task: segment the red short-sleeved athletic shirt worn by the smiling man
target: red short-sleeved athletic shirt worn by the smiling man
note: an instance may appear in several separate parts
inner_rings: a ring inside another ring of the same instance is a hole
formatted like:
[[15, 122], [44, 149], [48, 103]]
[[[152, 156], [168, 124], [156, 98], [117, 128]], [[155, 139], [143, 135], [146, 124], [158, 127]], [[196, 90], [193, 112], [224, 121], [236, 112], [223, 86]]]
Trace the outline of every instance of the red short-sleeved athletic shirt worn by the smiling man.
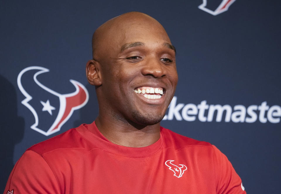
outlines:
[[4, 194], [246, 193], [215, 146], [160, 131], [154, 144], [130, 148], [109, 142], [95, 122], [70, 129], [26, 150]]

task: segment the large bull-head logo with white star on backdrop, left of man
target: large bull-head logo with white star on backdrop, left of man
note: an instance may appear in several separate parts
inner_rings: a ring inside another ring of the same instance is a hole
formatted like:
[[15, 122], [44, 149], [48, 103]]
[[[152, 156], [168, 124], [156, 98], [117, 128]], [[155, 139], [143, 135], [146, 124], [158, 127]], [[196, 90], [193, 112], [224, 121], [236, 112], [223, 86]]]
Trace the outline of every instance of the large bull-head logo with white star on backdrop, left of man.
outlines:
[[82, 108], [88, 102], [89, 94], [81, 83], [72, 79], [69, 81], [76, 91], [67, 94], [57, 93], [38, 81], [37, 76], [45, 72], [49, 72], [49, 69], [39, 66], [26, 67], [19, 73], [17, 82], [18, 88], [25, 96], [21, 103], [35, 118], [35, 123], [30, 128], [48, 136], [59, 131], [73, 111]]

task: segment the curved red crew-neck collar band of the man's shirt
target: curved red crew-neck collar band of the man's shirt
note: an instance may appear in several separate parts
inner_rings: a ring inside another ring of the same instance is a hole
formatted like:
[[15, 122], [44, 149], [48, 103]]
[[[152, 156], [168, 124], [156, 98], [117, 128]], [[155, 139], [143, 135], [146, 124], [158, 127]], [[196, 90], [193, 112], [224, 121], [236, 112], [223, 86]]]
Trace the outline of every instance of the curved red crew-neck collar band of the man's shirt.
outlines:
[[91, 124], [82, 124], [76, 128], [76, 130], [92, 144], [106, 150], [111, 153], [125, 155], [128, 157], [146, 157], [153, 155], [163, 146], [163, 136], [161, 133], [162, 127], [160, 127], [160, 138], [150, 146], [141, 148], [132, 148], [126, 146], [120, 146], [110, 142], [106, 137], [104, 137], [99, 129], [97, 128], [95, 121]]

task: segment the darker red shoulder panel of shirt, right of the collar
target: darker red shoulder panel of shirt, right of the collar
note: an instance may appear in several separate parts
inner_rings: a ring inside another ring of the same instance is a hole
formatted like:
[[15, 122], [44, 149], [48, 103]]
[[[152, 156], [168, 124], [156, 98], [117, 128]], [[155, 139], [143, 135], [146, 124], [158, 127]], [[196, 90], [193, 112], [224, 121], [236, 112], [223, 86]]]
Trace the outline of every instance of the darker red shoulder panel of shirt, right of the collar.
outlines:
[[213, 150], [212, 144], [205, 141], [198, 141], [180, 134], [177, 134], [169, 129], [161, 127], [161, 134], [163, 136], [164, 142], [167, 146], [173, 145], [176, 149], [180, 149], [186, 146], [198, 146], [207, 147]]

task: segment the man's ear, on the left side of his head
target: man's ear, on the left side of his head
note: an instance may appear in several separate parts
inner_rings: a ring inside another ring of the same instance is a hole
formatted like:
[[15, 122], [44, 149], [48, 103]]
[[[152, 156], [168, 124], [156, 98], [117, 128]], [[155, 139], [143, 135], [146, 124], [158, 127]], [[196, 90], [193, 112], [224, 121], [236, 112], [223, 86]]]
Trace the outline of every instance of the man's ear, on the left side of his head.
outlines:
[[86, 76], [87, 76], [88, 82], [91, 85], [94, 85], [94, 86], [102, 85], [100, 63], [98, 63], [94, 59], [89, 60], [88, 63], [86, 64]]

